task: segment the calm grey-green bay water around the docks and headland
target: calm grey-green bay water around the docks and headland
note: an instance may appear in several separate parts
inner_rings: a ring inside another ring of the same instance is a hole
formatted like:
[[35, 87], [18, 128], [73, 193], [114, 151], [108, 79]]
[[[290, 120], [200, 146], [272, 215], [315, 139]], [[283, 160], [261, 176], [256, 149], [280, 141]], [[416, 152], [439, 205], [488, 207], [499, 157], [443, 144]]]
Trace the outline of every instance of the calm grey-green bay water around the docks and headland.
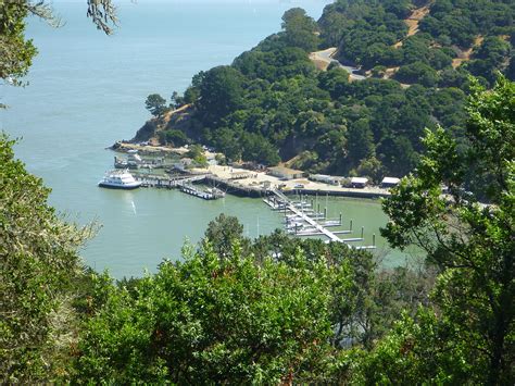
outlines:
[[[178, 191], [100, 189], [112, 166], [105, 150], [133, 137], [148, 119], [145, 99], [184, 91], [201, 70], [229, 64], [280, 28], [292, 7], [318, 17], [329, 1], [128, 1], [118, 5], [121, 27], [105, 37], [85, 16], [85, 1], [54, 2], [66, 25], [52, 29], [32, 20], [27, 35], [39, 49], [29, 86], [1, 86], [1, 128], [21, 137], [16, 155], [53, 191], [50, 201], [71, 220], [102, 224], [81, 251], [97, 270], [116, 276], [154, 271], [163, 258], [177, 259], [186, 239], [197, 242], [221, 212], [237, 215], [255, 237], [281, 219], [258, 199], [203, 201]], [[367, 242], [386, 217], [378, 202], [329, 200], [329, 211], [365, 226]], [[385, 241], [377, 238], [381, 247]], [[390, 253], [392, 261], [398, 254]]]

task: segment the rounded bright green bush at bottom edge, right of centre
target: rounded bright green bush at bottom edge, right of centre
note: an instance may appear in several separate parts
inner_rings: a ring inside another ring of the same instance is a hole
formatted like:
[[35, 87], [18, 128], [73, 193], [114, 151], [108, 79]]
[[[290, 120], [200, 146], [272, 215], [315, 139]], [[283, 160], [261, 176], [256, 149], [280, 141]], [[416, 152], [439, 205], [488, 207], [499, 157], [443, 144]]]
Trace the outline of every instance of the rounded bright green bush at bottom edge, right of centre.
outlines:
[[[402, 315], [370, 353], [347, 353], [356, 384], [480, 384], [460, 331], [422, 309], [416, 317]], [[357, 365], [356, 365], [357, 364]]]

